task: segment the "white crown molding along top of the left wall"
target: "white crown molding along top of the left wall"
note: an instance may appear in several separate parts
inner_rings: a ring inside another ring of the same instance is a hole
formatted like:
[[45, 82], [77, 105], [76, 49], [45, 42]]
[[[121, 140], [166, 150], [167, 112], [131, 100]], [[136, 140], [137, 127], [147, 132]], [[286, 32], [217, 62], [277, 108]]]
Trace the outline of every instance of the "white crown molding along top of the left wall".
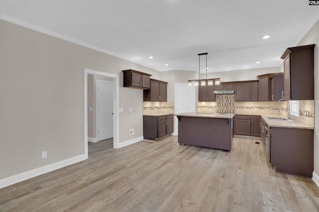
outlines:
[[[87, 48], [90, 48], [90, 49], [93, 49], [93, 50], [96, 50], [96, 51], [99, 51], [99, 52], [103, 52], [103, 53], [108, 54], [108, 55], [112, 55], [112, 56], [115, 56], [115, 57], [118, 57], [118, 58], [122, 58], [122, 59], [130, 61], [132, 63], [140, 64], [140, 65], [148, 67], [150, 69], [155, 69], [156, 70], [156, 68], [151, 67], [148, 64], [141, 63], [141, 61], [135, 61], [135, 60], [132, 60], [130, 58], [125, 58], [125, 57], [123, 57], [121, 55], [118, 55], [118, 54], [116, 54], [114, 52], [110, 52], [110, 51], [108, 51], [106, 49], [102, 49], [102, 48], [94, 46], [92, 44], [89, 44], [89, 43], [86, 43], [86, 42], [83, 42], [83, 41], [80, 41], [80, 40], [65, 36], [63, 34], [60, 34], [60, 33], [45, 29], [43, 27], [40, 27], [40, 26], [34, 25], [32, 23], [29, 23], [29, 22], [14, 18], [14, 17], [6, 15], [6, 14], [1, 14], [0, 15], [0, 19], [5, 20], [5, 21], [9, 21], [9, 22], [17, 24], [19, 26], [26, 27], [28, 29], [35, 30], [37, 32], [41, 32], [41, 33], [44, 33], [44, 34], [47, 34], [47, 35], [50, 35], [50, 36], [53, 36], [53, 37], [56, 37], [56, 38], [60, 38], [60, 39], [65, 40], [65, 41], [69, 41], [71, 43], [78, 44], [80, 46], [84, 46], [84, 47], [87, 47]], [[157, 71], [159, 71], [159, 70], [157, 70]]]

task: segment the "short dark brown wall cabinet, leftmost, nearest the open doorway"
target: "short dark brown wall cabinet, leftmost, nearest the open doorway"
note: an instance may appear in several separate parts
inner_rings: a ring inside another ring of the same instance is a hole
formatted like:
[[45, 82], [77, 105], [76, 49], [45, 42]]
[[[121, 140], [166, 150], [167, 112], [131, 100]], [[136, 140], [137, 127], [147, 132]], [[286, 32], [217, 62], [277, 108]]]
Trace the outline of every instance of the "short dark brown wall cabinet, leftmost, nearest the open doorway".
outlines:
[[132, 69], [123, 70], [123, 87], [150, 89], [150, 76], [152, 75]]

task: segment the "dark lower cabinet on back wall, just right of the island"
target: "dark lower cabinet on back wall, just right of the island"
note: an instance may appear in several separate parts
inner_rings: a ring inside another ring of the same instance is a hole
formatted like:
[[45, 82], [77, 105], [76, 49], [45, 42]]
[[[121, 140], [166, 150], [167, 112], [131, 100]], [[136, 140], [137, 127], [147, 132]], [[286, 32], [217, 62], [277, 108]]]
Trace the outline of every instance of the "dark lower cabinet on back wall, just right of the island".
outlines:
[[260, 116], [235, 115], [234, 135], [260, 137]]

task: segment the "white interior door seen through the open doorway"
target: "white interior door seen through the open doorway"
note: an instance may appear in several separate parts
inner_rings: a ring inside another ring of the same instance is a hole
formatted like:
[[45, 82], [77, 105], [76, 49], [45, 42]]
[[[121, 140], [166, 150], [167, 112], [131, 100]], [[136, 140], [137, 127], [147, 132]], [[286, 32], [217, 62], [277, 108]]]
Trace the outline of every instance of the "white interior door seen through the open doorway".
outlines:
[[113, 138], [113, 82], [97, 80], [98, 140]]

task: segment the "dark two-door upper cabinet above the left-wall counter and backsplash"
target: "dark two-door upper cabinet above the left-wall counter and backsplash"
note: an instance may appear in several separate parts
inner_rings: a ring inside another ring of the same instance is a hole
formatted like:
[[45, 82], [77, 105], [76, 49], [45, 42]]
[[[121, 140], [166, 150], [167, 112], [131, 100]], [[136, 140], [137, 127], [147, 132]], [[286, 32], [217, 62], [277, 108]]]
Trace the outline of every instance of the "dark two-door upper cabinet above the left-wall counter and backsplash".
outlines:
[[167, 101], [167, 82], [151, 79], [151, 87], [144, 90], [144, 101]]

